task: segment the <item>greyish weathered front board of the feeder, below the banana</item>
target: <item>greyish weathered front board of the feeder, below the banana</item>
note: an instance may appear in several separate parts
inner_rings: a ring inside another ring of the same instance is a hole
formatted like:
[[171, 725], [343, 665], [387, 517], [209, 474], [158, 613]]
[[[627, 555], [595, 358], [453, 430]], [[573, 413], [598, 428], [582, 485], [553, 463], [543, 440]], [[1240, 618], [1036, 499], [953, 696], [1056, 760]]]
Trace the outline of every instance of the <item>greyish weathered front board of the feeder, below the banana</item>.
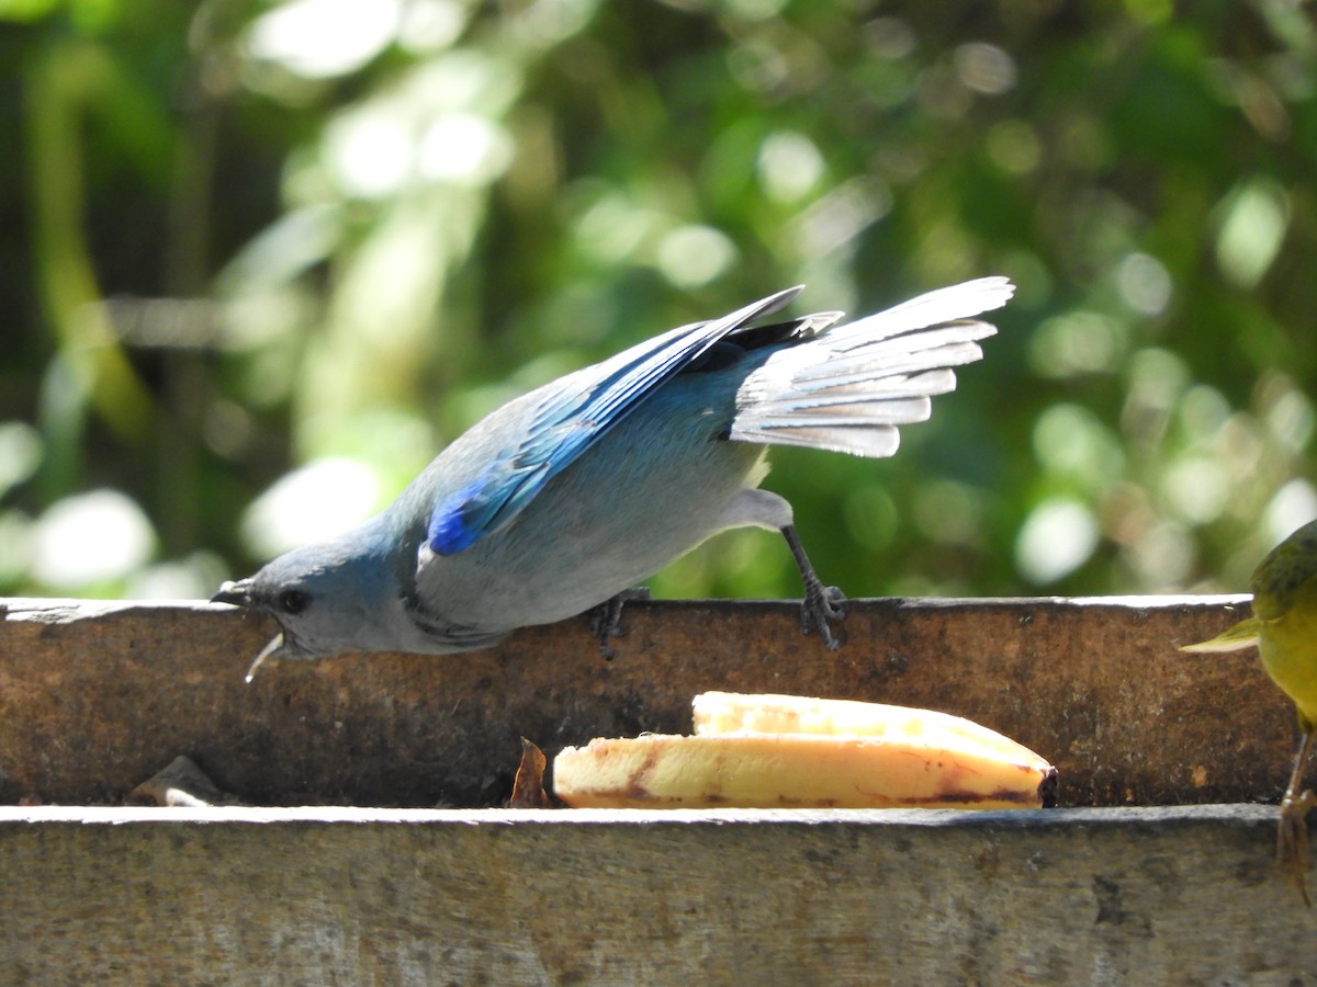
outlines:
[[0, 809], [7, 983], [1314, 983], [1255, 805]]

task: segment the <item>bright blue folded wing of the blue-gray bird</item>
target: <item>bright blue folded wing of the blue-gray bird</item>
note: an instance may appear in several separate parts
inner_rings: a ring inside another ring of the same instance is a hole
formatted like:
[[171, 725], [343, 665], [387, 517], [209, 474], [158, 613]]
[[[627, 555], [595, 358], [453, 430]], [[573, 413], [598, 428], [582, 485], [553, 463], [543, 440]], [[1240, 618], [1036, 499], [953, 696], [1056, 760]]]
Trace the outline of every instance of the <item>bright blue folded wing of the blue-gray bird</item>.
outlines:
[[520, 441], [495, 457], [479, 478], [435, 505], [427, 528], [431, 550], [454, 555], [497, 532], [656, 387], [798, 292], [788, 288], [722, 318], [673, 329], [564, 378]]

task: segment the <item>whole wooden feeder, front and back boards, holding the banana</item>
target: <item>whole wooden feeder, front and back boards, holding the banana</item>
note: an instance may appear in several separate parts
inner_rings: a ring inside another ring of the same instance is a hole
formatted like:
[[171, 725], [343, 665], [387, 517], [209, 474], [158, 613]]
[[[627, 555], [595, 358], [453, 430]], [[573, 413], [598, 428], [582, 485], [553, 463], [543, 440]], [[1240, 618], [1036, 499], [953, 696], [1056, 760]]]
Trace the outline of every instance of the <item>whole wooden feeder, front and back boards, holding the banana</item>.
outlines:
[[[5, 983], [1313, 983], [1274, 863], [1293, 715], [1246, 597], [632, 604], [444, 658], [244, 672], [273, 624], [0, 600]], [[706, 690], [919, 705], [1026, 744], [1052, 809], [503, 809], [520, 737], [690, 729]], [[230, 796], [129, 794], [176, 755]], [[1317, 884], [1317, 874], [1309, 884]]]

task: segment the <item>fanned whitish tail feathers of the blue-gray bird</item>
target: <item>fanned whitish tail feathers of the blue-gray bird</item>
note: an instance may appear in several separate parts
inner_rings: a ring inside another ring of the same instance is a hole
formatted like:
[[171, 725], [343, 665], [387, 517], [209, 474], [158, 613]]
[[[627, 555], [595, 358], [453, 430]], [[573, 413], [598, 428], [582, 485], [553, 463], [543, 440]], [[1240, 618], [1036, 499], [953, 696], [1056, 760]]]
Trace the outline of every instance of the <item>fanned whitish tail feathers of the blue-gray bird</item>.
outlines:
[[979, 340], [997, 330], [973, 316], [1013, 292], [1005, 278], [982, 278], [777, 350], [741, 384], [728, 437], [892, 455], [897, 428], [925, 421], [931, 399], [955, 390], [952, 367], [982, 357]]

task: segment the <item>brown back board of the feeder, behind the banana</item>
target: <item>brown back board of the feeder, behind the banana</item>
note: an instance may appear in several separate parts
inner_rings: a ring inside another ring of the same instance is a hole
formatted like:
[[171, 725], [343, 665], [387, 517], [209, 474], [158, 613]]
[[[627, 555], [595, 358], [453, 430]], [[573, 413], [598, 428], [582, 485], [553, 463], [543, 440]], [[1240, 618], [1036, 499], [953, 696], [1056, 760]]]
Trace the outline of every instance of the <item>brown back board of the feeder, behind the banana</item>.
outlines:
[[0, 803], [113, 804], [176, 754], [254, 803], [493, 805], [519, 737], [689, 729], [709, 688], [923, 705], [1050, 758], [1063, 804], [1275, 801], [1288, 704], [1251, 653], [1187, 657], [1243, 597], [857, 600], [844, 649], [792, 603], [628, 605], [444, 658], [345, 657], [242, 680], [274, 625], [199, 603], [0, 600]]

